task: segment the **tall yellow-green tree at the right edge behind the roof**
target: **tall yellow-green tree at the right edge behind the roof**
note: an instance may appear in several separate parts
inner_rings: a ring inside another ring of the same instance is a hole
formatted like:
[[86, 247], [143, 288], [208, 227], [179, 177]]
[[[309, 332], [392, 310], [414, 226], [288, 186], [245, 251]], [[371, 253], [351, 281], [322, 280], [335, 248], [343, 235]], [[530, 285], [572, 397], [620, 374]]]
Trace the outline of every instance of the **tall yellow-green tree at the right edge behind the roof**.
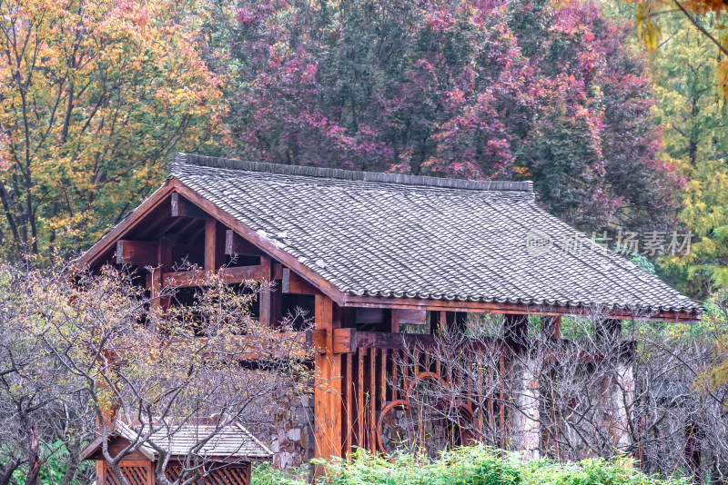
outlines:
[[728, 114], [714, 89], [715, 45], [679, 14], [664, 16], [662, 25], [666, 38], [649, 57], [660, 100], [655, 121], [664, 126], [662, 158], [688, 179], [679, 215], [693, 233], [690, 254], [665, 258], [662, 272], [705, 299], [713, 285], [728, 286]]

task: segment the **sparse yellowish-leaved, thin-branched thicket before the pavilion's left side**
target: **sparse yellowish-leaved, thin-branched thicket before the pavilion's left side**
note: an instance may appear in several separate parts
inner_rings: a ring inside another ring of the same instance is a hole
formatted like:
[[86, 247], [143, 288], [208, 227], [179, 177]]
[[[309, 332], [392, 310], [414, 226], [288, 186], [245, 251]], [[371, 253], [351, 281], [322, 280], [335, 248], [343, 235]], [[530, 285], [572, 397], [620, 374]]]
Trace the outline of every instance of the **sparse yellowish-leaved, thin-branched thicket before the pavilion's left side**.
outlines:
[[[121, 460], [145, 448], [157, 454], [157, 483], [187, 485], [221, 466], [197, 452], [204, 443], [230, 425], [268, 431], [286, 397], [310, 391], [311, 350], [291, 326], [308, 319], [289, 315], [273, 328], [252, 318], [258, 282], [231, 286], [212, 275], [182, 304], [173, 287], [151, 300], [134, 273], [72, 270], [2, 266], [0, 282], [12, 286], [0, 295], [12, 295], [13, 311], [0, 316], [0, 479], [25, 470], [26, 483], [37, 483], [45, 461], [65, 450], [69, 484], [82, 446], [101, 438], [118, 483], [127, 484]], [[118, 423], [136, 438], [112, 451]], [[189, 425], [204, 432], [186, 435], [187, 455], [171, 479], [170, 441]]]

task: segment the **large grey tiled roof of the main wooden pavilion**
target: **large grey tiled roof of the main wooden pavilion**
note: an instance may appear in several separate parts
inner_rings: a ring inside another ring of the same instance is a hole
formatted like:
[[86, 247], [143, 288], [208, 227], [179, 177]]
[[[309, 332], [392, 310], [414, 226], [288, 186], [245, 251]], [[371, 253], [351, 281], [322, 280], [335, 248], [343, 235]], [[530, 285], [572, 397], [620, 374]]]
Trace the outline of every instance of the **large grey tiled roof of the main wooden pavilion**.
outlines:
[[[701, 310], [543, 211], [529, 182], [349, 172], [184, 153], [175, 156], [169, 176], [341, 292], [633, 312]], [[527, 241], [541, 241], [544, 249]]]

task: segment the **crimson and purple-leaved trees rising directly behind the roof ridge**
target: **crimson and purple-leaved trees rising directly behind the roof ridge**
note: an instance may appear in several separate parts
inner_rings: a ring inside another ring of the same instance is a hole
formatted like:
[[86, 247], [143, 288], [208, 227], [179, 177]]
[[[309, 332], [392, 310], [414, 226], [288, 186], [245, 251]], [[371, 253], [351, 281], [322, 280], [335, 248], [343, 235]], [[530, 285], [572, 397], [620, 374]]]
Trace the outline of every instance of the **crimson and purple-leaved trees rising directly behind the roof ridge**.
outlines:
[[673, 223], [643, 65], [594, 5], [213, 5], [206, 57], [242, 158], [533, 179], [583, 229]]

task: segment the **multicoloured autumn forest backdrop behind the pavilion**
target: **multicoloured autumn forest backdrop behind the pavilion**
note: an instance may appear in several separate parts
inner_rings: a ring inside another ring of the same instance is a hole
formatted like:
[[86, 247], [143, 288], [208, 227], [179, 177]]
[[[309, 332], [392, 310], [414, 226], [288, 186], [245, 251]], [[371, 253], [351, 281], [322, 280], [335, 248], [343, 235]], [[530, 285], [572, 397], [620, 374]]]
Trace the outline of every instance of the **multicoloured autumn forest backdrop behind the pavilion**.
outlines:
[[[720, 389], [724, 406], [725, 5], [655, 2], [0, 0], [0, 261], [72, 258], [175, 151], [532, 180], [545, 209], [706, 303], [648, 330], [697, 356], [678, 369], [695, 402]], [[728, 441], [708, 438], [728, 476]]]

